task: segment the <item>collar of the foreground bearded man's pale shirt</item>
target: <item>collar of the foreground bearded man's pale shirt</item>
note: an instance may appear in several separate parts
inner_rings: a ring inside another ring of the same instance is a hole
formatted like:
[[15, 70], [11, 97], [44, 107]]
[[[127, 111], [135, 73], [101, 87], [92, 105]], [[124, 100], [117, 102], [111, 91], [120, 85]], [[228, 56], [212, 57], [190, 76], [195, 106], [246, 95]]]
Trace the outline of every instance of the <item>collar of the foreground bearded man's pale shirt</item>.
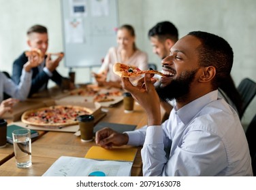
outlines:
[[204, 106], [206, 106], [206, 104], [214, 100], [217, 100], [217, 98], [218, 90], [214, 90], [200, 98], [193, 100], [192, 102], [189, 102], [189, 104], [186, 104], [181, 109], [178, 109], [178, 111], [176, 111], [176, 108], [174, 107], [175, 114], [178, 115], [182, 123], [187, 125], [189, 121], [191, 121], [191, 119], [193, 119], [193, 117], [195, 117], [195, 115], [200, 110], [202, 110]]

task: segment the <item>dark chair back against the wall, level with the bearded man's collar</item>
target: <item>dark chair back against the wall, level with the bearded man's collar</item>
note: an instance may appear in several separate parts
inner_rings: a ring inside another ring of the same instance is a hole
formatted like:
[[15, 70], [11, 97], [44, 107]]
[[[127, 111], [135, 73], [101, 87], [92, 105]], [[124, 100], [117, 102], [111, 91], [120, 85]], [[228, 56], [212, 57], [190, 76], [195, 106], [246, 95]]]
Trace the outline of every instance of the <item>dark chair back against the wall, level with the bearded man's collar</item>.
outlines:
[[238, 86], [238, 92], [242, 98], [242, 110], [239, 115], [240, 119], [244, 115], [246, 108], [256, 95], [256, 83], [249, 78], [242, 79]]

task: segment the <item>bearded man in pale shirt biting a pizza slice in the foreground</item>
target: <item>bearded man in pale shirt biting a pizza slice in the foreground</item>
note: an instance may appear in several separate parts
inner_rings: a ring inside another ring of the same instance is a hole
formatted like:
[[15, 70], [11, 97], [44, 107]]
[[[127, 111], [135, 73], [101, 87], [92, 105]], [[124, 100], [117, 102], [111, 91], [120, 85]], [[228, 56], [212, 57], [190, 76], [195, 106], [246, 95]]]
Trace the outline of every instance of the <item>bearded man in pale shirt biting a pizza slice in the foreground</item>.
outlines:
[[[253, 176], [238, 114], [218, 98], [232, 64], [233, 50], [225, 39], [202, 31], [182, 37], [162, 60], [168, 76], [161, 77], [159, 88], [150, 74], [138, 86], [122, 79], [148, 115], [146, 130], [119, 134], [103, 129], [96, 143], [106, 149], [143, 145], [144, 176]], [[160, 98], [176, 102], [162, 124]]]

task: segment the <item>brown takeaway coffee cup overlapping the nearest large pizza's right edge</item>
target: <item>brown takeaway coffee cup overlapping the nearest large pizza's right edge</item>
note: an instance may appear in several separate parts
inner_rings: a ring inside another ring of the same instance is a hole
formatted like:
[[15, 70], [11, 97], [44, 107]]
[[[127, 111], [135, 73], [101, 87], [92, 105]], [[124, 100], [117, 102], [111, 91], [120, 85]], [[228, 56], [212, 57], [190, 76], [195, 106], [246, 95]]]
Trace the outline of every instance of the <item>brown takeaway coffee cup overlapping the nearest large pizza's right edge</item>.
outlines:
[[82, 142], [93, 140], [94, 117], [93, 115], [80, 115], [77, 117]]

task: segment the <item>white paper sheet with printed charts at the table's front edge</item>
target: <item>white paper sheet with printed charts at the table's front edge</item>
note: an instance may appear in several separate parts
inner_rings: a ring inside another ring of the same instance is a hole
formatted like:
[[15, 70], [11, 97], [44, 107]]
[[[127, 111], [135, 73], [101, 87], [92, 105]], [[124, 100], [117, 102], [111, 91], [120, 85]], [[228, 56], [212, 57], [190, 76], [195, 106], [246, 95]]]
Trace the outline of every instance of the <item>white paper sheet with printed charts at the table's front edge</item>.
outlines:
[[89, 176], [93, 172], [101, 172], [106, 176], [131, 176], [132, 165], [132, 162], [61, 156], [42, 176]]

